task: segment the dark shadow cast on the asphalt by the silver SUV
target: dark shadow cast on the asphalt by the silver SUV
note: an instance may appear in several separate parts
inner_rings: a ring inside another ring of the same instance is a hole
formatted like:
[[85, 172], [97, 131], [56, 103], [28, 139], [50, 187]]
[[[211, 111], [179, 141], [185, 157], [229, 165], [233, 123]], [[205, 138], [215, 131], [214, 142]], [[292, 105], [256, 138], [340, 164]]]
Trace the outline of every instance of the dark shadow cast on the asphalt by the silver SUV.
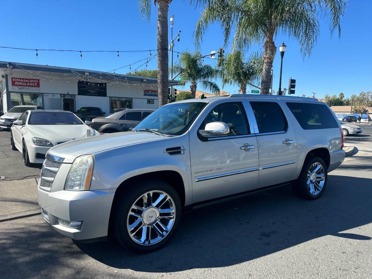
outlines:
[[[113, 241], [75, 244], [112, 267], [175, 272], [230, 266], [323, 235], [370, 240], [372, 233], [340, 231], [372, 222], [372, 179], [332, 175], [328, 179], [324, 195], [315, 201], [298, 199], [286, 187], [187, 213], [174, 239], [150, 254], [133, 253]], [[350, 191], [350, 185], [355, 190]], [[170, 255], [173, 260], [156, 260]]]

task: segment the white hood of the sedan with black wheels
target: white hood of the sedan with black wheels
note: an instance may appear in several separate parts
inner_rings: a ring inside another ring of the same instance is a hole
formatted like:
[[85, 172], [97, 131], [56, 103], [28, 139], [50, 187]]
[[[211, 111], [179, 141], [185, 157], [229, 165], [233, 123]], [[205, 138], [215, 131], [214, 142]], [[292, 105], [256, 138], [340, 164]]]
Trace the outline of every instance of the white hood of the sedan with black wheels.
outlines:
[[[87, 125], [28, 125], [27, 129], [34, 137], [48, 140], [53, 145], [73, 138], [85, 138], [87, 129], [90, 129], [91, 134], [95, 131]], [[96, 131], [96, 134], [99, 133]]]

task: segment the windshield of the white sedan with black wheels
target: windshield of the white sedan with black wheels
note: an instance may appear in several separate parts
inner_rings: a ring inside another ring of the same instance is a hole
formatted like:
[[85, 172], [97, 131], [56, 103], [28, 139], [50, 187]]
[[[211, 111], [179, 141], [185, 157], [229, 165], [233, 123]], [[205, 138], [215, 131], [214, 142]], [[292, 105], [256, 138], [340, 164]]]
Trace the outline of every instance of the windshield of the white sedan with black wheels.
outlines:
[[83, 124], [75, 115], [68, 112], [31, 113], [29, 125], [76, 125]]

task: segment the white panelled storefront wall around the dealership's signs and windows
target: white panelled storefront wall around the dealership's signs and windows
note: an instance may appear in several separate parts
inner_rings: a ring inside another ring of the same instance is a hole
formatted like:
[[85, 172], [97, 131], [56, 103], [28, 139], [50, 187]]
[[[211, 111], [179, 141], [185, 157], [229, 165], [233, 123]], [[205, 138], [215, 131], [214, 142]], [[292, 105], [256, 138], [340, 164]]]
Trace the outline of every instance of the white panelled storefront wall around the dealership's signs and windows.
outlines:
[[[52, 76], [51, 73], [42, 73], [43, 75]], [[18, 87], [12, 87], [12, 77], [19, 78], [38, 78], [40, 80], [39, 88], [32, 88], [32, 90], [19, 90]], [[95, 106], [101, 108], [106, 112], [106, 116], [111, 114], [110, 112], [110, 97], [122, 97], [132, 99], [132, 108], [148, 108], [157, 109], [159, 107], [159, 99], [156, 96], [144, 96], [144, 89], [157, 90], [157, 85], [142, 85], [141, 88], [138, 85], [130, 85], [129, 87], [125, 84], [112, 83], [109, 85], [106, 82], [107, 97], [95, 97], [95, 96], [80, 96], [77, 93], [77, 80], [76, 78], [67, 79], [55, 76], [52, 78], [43, 79], [43, 77], [37, 77], [36, 74], [21, 73], [20, 71], [13, 70], [11, 75], [8, 75], [8, 84], [10, 92], [19, 93], [42, 93], [43, 94], [43, 106], [45, 109], [62, 109], [62, 98], [63, 95], [75, 95], [75, 110], [80, 109], [83, 106]], [[104, 81], [103, 81], [104, 82]], [[125, 81], [122, 81], [123, 83]], [[5, 97], [5, 96], [4, 96]], [[148, 99], [154, 99], [154, 104], [148, 104]], [[6, 99], [4, 98], [6, 102]], [[4, 103], [6, 107], [6, 104]]]

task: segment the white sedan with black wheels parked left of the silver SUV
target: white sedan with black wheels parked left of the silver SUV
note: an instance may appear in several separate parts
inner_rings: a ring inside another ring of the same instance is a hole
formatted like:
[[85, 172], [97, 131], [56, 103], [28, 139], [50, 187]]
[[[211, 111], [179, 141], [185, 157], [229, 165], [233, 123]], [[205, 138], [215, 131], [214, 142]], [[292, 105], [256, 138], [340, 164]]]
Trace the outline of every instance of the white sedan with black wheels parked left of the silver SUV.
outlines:
[[26, 166], [43, 163], [54, 145], [99, 135], [74, 113], [64, 110], [27, 110], [10, 128], [10, 144], [19, 150]]

